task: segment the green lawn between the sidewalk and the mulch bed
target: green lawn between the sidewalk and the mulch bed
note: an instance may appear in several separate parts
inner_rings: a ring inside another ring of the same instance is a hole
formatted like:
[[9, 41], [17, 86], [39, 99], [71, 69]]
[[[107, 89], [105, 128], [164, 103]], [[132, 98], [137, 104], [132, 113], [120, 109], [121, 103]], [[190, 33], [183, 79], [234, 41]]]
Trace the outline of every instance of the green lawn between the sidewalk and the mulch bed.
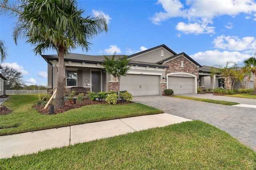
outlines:
[[88, 105], [57, 115], [42, 115], [33, 108], [38, 101], [38, 95], [10, 95], [9, 97], [10, 99], [4, 105], [11, 109], [12, 113], [0, 116], [0, 136], [163, 113], [159, 109], [140, 103], [131, 103], [128, 105]]

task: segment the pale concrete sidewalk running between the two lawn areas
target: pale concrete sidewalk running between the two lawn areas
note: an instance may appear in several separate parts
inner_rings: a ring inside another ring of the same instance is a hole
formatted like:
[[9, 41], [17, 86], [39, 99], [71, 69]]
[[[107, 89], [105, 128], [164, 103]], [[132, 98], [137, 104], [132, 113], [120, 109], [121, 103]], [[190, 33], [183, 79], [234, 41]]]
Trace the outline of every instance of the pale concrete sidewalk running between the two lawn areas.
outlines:
[[164, 127], [184, 121], [191, 120], [161, 113], [0, 136], [0, 158], [35, 153], [46, 149], [108, 138], [148, 128]]

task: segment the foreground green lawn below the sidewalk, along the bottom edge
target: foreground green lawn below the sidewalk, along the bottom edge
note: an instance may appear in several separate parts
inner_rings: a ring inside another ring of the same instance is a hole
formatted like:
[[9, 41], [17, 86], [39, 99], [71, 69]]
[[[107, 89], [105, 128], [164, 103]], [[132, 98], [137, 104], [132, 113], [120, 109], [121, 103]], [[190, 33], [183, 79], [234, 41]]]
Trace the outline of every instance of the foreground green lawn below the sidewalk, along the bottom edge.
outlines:
[[0, 169], [253, 170], [256, 152], [202, 121], [0, 159]]

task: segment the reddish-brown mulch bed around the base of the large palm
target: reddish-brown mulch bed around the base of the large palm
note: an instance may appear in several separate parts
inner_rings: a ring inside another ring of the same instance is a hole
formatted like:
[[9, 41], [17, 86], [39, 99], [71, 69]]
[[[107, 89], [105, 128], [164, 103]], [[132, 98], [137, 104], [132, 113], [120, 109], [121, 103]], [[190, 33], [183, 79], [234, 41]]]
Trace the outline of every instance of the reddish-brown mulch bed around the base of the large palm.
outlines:
[[[73, 101], [66, 101], [64, 107], [62, 107], [61, 109], [58, 109], [56, 111], [54, 111], [53, 114], [58, 114], [58, 113], [63, 113], [66, 112], [70, 109], [75, 109], [75, 108], [79, 108], [82, 106], [86, 106], [86, 105], [98, 105], [98, 104], [108, 104], [106, 101], [91, 101], [88, 98], [84, 98], [82, 103], [79, 103], [78, 101], [76, 101], [76, 104], [72, 103]], [[124, 104], [129, 104], [129, 103], [133, 103], [133, 102], [124, 102], [122, 103], [121, 101], [118, 102], [118, 105], [124, 105]], [[35, 105], [34, 109], [36, 109], [38, 112], [45, 114], [45, 115], [50, 115], [50, 106], [46, 107], [46, 109], [44, 109], [44, 106], [41, 105]]]

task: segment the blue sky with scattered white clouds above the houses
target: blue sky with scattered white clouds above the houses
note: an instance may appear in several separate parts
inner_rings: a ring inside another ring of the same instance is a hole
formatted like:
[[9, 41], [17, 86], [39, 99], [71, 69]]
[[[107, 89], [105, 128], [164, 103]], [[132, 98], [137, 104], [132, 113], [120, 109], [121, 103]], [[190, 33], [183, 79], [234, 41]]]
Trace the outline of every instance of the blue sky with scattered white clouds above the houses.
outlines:
[[[89, 55], [131, 55], [161, 44], [185, 52], [200, 65], [242, 63], [256, 52], [255, 0], [78, 0], [84, 17], [102, 15], [108, 33], [90, 40]], [[15, 18], [1, 16], [0, 39], [8, 52], [2, 66], [22, 72], [27, 85], [47, 85], [47, 64], [25, 40], [15, 45]], [[45, 54], [57, 54], [47, 51]]]

